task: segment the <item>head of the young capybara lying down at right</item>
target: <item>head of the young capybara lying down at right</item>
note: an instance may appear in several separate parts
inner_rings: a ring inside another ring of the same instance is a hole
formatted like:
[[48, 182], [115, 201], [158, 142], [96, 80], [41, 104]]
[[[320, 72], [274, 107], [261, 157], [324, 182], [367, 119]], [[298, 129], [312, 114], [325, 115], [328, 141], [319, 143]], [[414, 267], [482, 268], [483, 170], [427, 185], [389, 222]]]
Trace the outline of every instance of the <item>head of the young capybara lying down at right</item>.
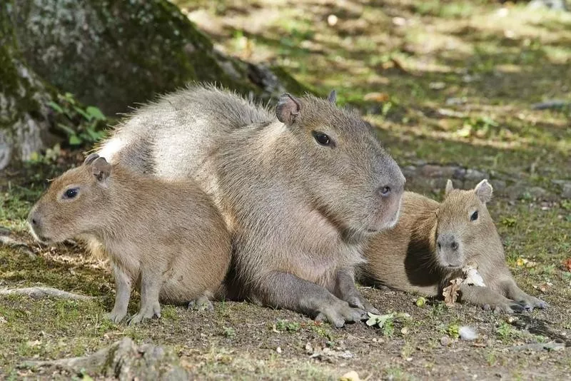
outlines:
[[495, 226], [486, 203], [492, 199], [492, 186], [482, 180], [473, 190], [454, 189], [446, 184], [445, 198], [436, 212], [436, 260], [442, 268], [463, 268], [470, 260], [494, 250]]

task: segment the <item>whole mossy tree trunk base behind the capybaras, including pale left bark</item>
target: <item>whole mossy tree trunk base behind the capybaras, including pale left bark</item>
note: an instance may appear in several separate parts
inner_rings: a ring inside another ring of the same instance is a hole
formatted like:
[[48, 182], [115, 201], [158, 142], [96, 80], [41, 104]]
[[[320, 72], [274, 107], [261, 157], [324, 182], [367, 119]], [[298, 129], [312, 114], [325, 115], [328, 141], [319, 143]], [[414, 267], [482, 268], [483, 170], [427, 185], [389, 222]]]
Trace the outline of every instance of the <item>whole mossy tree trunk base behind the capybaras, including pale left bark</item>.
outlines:
[[49, 141], [56, 91], [113, 116], [192, 81], [264, 101], [307, 90], [216, 51], [167, 0], [7, 0], [0, 24], [0, 168]]

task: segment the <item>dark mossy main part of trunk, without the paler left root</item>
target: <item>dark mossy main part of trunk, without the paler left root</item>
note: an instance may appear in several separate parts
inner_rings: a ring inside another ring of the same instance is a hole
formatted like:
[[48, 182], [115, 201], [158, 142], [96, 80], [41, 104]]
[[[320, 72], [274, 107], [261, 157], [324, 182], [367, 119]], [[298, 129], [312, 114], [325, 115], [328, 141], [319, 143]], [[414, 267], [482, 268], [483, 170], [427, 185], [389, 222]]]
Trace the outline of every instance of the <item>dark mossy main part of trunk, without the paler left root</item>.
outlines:
[[[59, 91], [108, 115], [191, 81], [266, 100], [303, 88], [283, 71], [275, 76], [223, 56], [166, 0], [22, 0], [8, 11], [26, 63]], [[266, 82], [256, 82], [260, 72]]]

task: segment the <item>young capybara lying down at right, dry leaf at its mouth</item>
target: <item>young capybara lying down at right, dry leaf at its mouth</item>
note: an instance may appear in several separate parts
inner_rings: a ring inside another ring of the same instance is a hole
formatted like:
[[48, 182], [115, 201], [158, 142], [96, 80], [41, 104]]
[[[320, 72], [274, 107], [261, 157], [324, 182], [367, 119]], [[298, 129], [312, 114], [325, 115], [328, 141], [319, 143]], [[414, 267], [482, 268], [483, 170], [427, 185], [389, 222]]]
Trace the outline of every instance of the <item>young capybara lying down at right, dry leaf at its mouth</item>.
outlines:
[[470, 191], [453, 189], [448, 180], [442, 203], [405, 192], [398, 223], [374, 235], [365, 250], [364, 283], [437, 296], [475, 263], [485, 287], [463, 283], [461, 300], [507, 313], [545, 308], [545, 302], [517, 287], [507, 268], [486, 208], [491, 198], [486, 180]]

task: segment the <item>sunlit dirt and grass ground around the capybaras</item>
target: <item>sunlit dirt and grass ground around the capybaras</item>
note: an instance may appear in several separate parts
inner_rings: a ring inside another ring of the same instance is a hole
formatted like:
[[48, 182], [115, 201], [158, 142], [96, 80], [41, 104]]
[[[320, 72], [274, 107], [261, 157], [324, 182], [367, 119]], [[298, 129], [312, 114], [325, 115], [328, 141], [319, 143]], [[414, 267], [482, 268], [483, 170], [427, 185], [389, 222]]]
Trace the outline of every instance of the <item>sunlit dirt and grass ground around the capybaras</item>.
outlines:
[[[218, 302], [210, 313], [167, 305], [161, 320], [115, 325], [103, 318], [114, 297], [106, 263], [80, 245], [40, 247], [26, 233], [46, 179], [79, 163], [81, 153], [64, 151], [0, 176], [0, 233], [32, 248], [0, 246], [0, 288], [96, 299], [0, 296], [0, 378], [56, 377], [18, 365], [93, 353], [121, 337], [172, 351], [196, 379], [338, 380], [350, 370], [368, 380], [571, 377], [571, 272], [562, 265], [571, 257], [571, 111], [531, 106], [571, 101], [571, 13], [481, 0], [175, 2], [219, 49], [275, 61], [323, 93], [336, 88], [378, 126], [410, 190], [439, 199], [448, 175], [465, 187], [489, 177], [512, 273], [550, 307], [513, 316], [438, 300], [419, 307], [418, 295], [363, 288], [382, 313], [410, 317], [335, 330], [286, 310]], [[464, 325], [476, 340], [457, 338]]]

